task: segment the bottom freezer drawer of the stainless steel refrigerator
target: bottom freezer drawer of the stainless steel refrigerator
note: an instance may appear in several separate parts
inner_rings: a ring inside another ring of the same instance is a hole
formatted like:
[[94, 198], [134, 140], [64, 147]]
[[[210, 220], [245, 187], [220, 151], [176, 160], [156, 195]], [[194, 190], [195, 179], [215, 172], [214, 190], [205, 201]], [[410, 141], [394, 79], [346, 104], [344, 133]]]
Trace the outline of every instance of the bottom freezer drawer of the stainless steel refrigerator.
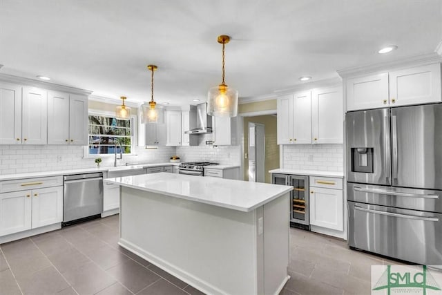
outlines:
[[347, 202], [350, 247], [442, 265], [442, 213]]

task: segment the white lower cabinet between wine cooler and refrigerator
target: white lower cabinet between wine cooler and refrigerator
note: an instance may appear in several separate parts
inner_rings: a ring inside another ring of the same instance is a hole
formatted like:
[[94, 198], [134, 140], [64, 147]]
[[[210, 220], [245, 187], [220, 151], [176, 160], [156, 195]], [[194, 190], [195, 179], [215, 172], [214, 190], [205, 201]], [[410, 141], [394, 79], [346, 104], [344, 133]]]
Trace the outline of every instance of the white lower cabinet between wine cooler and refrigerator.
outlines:
[[310, 177], [310, 225], [343, 231], [343, 180]]

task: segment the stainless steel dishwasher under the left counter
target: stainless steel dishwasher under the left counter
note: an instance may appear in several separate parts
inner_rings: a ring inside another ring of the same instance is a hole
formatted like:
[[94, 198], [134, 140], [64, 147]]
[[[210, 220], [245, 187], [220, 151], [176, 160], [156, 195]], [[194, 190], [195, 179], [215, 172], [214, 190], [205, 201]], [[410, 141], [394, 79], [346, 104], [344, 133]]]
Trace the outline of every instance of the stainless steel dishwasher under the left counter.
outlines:
[[66, 175], [63, 181], [63, 225], [102, 213], [103, 173]]

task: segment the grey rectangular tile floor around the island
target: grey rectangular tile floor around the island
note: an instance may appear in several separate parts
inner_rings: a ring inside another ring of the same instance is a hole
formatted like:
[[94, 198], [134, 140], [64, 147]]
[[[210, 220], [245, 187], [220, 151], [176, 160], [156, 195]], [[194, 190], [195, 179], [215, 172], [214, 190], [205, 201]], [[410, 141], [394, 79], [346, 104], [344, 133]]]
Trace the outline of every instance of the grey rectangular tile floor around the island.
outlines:
[[[0, 294], [202, 294], [117, 245], [119, 216], [0, 245]], [[291, 229], [281, 294], [370, 294], [370, 265], [343, 240]]]

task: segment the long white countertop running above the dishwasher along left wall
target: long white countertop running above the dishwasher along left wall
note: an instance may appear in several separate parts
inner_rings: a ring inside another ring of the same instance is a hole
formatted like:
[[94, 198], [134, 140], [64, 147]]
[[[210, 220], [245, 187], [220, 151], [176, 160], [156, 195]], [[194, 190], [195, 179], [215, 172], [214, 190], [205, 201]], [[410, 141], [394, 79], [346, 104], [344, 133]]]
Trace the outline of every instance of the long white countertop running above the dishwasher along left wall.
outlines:
[[129, 170], [129, 169], [142, 169], [142, 168], [146, 168], [146, 167], [157, 167], [157, 166], [177, 166], [179, 164], [180, 163], [162, 162], [162, 163], [137, 164], [137, 165], [128, 165], [128, 166], [124, 165], [124, 166], [116, 166], [116, 167], [108, 166], [108, 167], [100, 167], [100, 168], [83, 168], [83, 169], [5, 174], [5, 175], [0, 175], [0, 181], [1, 180], [23, 179], [23, 178], [40, 178], [40, 177], [55, 176], [55, 175], [73, 175], [73, 174], [81, 174], [81, 173], [123, 171], [123, 170]]

